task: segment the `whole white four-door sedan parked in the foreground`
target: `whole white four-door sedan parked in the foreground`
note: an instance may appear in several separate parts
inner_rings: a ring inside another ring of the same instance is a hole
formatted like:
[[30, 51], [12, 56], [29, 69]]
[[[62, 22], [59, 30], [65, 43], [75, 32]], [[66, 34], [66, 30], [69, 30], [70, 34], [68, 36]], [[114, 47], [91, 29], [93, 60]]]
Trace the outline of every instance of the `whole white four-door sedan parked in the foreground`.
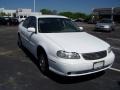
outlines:
[[18, 45], [38, 60], [40, 70], [81, 76], [110, 68], [115, 55], [108, 43], [57, 15], [29, 16], [19, 25]]

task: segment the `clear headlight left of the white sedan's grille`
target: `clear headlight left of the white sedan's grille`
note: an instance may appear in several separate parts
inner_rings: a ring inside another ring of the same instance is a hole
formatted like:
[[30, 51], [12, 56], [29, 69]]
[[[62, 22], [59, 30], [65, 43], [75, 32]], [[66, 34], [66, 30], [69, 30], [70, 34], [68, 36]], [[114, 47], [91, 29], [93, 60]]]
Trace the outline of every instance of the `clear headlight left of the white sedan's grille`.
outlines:
[[76, 52], [57, 51], [57, 56], [64, 59], [80, 59], [80, 56]]

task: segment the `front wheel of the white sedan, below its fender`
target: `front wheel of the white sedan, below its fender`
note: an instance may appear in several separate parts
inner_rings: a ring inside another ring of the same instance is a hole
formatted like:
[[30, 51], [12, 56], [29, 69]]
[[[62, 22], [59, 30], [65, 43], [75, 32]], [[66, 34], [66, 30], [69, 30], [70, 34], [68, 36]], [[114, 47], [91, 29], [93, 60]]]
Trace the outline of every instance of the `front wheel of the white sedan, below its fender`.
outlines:
[[49, 71], [48, 58], [46, 53], [41, 50], [38, 54], [39, 68], [43, 74], [47, 74]]

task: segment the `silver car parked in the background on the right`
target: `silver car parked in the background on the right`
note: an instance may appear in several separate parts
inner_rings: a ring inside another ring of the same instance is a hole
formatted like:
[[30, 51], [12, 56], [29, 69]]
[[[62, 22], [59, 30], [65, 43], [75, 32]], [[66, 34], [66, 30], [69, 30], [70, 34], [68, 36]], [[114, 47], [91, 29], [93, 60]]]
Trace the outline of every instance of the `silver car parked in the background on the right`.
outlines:
[[102, 19], [96, 23], [95, 30], [113, 31], [115, 30], [115, 23], [111, 19]]

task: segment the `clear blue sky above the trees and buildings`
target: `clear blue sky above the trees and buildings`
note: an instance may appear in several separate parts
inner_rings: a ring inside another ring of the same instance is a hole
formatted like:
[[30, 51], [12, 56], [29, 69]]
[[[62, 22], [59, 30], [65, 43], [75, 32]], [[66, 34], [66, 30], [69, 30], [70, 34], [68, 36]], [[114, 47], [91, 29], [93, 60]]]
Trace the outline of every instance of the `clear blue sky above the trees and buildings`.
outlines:
[[[94, 8], [120, 7], [120, 0], [35, 0], [36, 11], [51, 10], [90, 13]], [[34, 8], [34, 0], [0, 0], [0, 8]]]

